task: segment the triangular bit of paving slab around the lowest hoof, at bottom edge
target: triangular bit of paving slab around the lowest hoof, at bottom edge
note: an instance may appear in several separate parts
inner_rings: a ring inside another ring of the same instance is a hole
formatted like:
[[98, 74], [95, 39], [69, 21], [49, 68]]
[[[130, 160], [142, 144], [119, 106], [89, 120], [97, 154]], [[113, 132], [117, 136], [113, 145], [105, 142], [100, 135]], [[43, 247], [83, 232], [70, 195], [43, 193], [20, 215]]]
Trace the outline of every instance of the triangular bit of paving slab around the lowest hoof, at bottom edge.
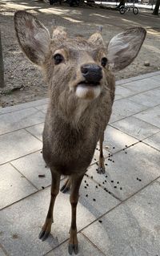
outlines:
[[[104, 256], [106, 254], [103, 254], [98, 248], [93, 246], [91, 242], [89, 242], [82, 234], [78, 234], [78, 256]], [[68, 250], [68, 241], [63, 243], [61, 246], [58, 246], [56, 249], [52, 250], [49, 254], [46, 254], [45, 256], [70, 256], [70, 254], [67, 252]], [[74, 253], [73, 253], [74, 255]]]

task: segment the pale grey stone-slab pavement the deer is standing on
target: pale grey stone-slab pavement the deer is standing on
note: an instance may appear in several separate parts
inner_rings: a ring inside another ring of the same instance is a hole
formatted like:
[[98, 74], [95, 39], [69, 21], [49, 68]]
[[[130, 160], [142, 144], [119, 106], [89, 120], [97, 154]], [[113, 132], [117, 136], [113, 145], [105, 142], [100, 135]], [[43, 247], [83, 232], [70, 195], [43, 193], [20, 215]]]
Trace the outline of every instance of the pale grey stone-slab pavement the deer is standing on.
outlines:
[[[68, 255], [69, 193], [58, 194], [50, 238], [38, 239], [50, 201], [46, 106], [0, 108], [0, 256]], [[160, 71], [117, 82], [104, 151], [105, 175], [96, 172], [97, 148], [80, 189], [78, 255], [159, 256]]]

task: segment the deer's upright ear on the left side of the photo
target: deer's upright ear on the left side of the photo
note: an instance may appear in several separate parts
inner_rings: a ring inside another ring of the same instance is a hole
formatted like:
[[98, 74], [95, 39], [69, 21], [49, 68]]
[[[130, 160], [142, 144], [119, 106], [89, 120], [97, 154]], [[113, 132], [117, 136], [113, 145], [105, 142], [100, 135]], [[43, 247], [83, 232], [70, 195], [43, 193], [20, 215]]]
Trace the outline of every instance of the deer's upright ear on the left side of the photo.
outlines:
[[19, 10], [14, 14], [14, 26], [22, 51], [41, 66], [50, 54], [50, 34], [32, 14]]

